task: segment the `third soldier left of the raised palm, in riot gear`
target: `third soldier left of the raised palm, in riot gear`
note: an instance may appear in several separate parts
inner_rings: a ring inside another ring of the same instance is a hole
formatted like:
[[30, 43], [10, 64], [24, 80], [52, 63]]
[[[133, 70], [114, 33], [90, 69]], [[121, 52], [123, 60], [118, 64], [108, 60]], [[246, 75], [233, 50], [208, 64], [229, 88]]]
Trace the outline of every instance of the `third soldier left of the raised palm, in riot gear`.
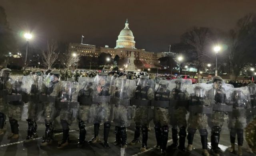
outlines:
[[53, 70], [48, 74], [48, 76], [43, 80], [44, 85], [42, 85], [42, 90], [40, 89], [40, 101], [44, 103], [44, 117], [45, 117], [45, 136], [44, 140], [41, 142], [41, 146], [47, 146], [52, 143], [54, 136], [53, 121], [56, 118], [56, 97], [60, 92], [59, 85], [60, 72]]

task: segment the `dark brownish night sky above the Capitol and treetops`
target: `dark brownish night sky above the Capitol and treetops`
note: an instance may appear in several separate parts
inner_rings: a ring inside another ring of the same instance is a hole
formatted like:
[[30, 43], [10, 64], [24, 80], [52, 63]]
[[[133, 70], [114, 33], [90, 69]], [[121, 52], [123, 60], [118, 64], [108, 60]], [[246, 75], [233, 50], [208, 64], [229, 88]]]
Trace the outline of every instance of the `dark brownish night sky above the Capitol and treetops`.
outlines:
[[[0, 0], [12, 30], [30, 30], [30, 45], [42, 47], [47, 39], [115, 47], [126, 18], [136, 48], [167, 51], [192, 26], [234, 28], [256, 0]], [[19, 39], [19, 38], [18, 38]], [[21, 44], [25, 41], [20, 38]]]

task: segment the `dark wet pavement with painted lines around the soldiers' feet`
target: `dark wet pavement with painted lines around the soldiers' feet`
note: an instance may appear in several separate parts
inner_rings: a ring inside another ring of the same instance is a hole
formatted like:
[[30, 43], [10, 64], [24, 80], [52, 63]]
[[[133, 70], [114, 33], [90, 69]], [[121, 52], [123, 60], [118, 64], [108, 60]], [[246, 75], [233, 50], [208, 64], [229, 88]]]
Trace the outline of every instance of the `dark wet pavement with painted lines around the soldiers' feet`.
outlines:
[[[18, 140], [8, 140], [7, 135], [10, 132], [10, 124], [7, 122], [7, 132], [0, 136], [0, 156], [118, 156], [120, 155], [120, 147], [114, 146], [114, 126], [111, 127], [110, 137], [108, 139], [110, 149], [104, 149], [101, 143], [88, 144], [86, 143], [83, 148], [77, 148], [78, 135], [77, 123], [73, 123], [70, 126], [70, 144], [65, 149], [57, 149], [58, 141], [62, 139], [62, 133], [58, 132], [55, 134], [54, 142], [50, 146], [41, 147], [40, 142], [44, 135], [44, 123], [38, 123], [38, 138], [35, 138], [31, 142], [23, 142], [26, 138], [27, 123], [20, 121], [20, 138]], [[126, 149], [126, 156], [162, 156], [160, 151], [156, 149], [154, 125], [150, 124], [151, 130], [148, 134], [148, 149], [145, 152], [140, 152], [140, 144], [134, 146], [128, 146]], [[134, 134], [134, 123], [127, 129], [128, 142], [133, 139]], [[86, 140], [90, 140], [94, 136], [94, 130], [92, 125], [87, 126]], [[103, 125], [100, 126], [100, 139], [103, 140]], [[169, 132], [168, 145], [172, 143], [171, 132]], [[210, 136], [208, 135], [208, 141]], [[140, 139], [141, 140], [141, 139]], [[209, 144], [209, 143], [208, 143]], [[200, 135], [196, 132], [194, 137], [194, 150], [192, 152], [180, 152], [179, 150], [172, 150], [165, 154], [166, 156], [201, 156], [201, 142]], [[210, 146], [209, 146], [210, 147]], [[229, 153], [227, 148], [230, 147], [229, 135], [226, 131], [223, 131], [220, 139], [220, 147], [224, 150], [221, 156], [236, 156], [235, 154]], [[244, 141], [244, 156], [253, 156], [246, 152], [246, 142]], [[236, 146], [237, 149], [237, 146]], [[226, 152], [225, 152], [226, 150]]]

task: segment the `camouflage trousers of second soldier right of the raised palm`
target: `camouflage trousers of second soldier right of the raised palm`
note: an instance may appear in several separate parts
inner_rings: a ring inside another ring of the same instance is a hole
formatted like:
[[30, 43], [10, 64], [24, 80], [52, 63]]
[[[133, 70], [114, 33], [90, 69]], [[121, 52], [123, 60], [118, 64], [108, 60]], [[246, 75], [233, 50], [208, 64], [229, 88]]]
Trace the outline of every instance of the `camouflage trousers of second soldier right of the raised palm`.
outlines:
[[153, 119], [153, 111], [151, 107], [138, 106], [134, 117], [136, 125], [148, 124]]

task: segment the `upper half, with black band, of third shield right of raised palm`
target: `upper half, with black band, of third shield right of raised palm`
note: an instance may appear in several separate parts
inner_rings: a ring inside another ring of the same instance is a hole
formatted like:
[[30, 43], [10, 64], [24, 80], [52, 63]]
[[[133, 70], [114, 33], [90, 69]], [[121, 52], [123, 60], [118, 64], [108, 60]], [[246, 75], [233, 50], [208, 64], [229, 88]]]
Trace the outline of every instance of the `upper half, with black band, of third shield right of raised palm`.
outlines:
[[170, 106], [170, 93], [172, 86], [170, 81], [161, 80], [156, 85], [154, 92], [155, 98], [153, 101], [154, 107], [169, 108]]

